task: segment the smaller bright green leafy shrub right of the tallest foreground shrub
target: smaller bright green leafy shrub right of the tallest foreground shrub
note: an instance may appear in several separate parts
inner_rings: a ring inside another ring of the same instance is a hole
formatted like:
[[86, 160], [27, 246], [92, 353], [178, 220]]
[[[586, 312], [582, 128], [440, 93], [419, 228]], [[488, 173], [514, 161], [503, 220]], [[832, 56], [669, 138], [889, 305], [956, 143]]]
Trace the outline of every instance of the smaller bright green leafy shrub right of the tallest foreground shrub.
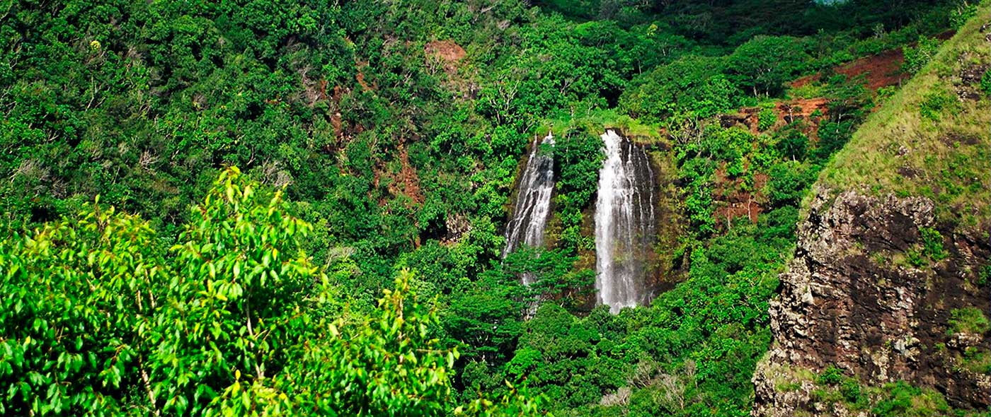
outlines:
[[[401, 272], [395, 289], [385, 290], [376, 316], [355, 324], [338, 321], [300, 352], [286, 372], [289, 378], [278, 380], [297, 382], [299, 406], [331, 415], [445, 415], [449, 369], [458, 353], [428, 336], [437, 313], [421, 307], [410, 277]], [[323, 386], [337, 388], [321, 395]]]

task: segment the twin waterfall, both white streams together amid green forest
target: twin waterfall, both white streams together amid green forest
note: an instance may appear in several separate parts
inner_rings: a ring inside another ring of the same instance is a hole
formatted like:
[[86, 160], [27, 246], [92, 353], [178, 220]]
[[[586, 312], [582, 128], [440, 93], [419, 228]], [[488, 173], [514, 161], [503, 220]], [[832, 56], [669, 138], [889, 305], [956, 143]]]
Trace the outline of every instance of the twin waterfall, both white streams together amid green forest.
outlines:
[[[597, 304], [612, 313], [641, 305], [647, 298], [647, 274], [653, 254], [656, 221], [655, 178], [642, 147], [633, 145], [612, 130], [602, 135], [606, 160], [599, 171], [596, 201], [596, 290]], [[519, 195], [506, 226], [502, 258], [522, 247], [542, 248], [550, 217], [554, 190], [554, 145], [548, 135], [534, 141], [519, 181]], [[542, 150], [543, 148], [543, 150]], [[535, 276], [524, 274], [523, 284]]]

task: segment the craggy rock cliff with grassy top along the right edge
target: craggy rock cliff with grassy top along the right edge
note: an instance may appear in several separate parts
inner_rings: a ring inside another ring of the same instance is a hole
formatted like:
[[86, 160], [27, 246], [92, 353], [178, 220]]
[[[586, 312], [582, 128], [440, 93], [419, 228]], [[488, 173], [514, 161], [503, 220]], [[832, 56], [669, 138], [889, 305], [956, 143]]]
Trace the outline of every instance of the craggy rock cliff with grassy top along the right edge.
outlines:
[[770, 304], [754, 416], [991, 407], [988, 68], [985, 2], [826, 167]]

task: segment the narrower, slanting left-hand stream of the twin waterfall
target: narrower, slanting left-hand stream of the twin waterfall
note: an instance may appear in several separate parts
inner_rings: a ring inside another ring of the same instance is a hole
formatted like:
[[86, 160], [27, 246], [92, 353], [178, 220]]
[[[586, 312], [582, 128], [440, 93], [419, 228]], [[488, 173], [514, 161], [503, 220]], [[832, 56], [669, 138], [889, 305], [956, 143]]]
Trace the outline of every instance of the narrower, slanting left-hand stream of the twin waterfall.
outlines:
[[[550, 133], [543, 141], [533, 141], [533, 150], [526, 160], [523, 177], [519, 180], [519, 195], [513, 207], [512, 219], [505, 228], [505, 248], [502, 258], [524, 246], [542, 248], [544, 227], [550, 214], [551, 191], [554, 189], [554, 156], [541, 148], [554, 146]], [[525, 273], [523, 284], [533, 283], [534, 276]]]

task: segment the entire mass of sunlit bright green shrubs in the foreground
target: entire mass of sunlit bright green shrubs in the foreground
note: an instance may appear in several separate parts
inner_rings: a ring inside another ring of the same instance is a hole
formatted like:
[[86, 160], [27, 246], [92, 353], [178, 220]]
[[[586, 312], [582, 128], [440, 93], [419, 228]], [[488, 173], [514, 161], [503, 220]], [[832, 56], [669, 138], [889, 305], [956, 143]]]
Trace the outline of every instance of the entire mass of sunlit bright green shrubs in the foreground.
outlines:
[[[225, 170], [165, 251], [93, 206], [0, 242], [0, 409], [13, 415], [440, 416], [459, 354], [403, 271], [371, 317], [302, 253], [312, 226]], [[462, 410], [533, 413], [513, 390]]]

